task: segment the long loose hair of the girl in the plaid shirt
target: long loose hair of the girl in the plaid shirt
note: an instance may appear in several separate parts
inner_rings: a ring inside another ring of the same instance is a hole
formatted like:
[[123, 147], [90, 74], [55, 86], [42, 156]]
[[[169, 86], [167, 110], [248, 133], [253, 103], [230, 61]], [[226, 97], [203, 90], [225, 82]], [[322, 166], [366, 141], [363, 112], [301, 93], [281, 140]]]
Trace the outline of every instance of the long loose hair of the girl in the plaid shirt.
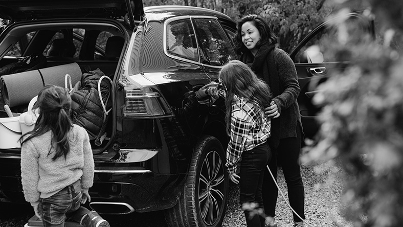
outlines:
[[235, 97], [245, 98], [249, 102], [257, 103], [264, 111], [270, 106], [272, 94], [268, 85], [250, 69], [238, 60], [229, 61], [222, 67], [218, 75], [223, 87], [226, 88], [226, 123], [227, 132], [230, 132], [232, 103]]

